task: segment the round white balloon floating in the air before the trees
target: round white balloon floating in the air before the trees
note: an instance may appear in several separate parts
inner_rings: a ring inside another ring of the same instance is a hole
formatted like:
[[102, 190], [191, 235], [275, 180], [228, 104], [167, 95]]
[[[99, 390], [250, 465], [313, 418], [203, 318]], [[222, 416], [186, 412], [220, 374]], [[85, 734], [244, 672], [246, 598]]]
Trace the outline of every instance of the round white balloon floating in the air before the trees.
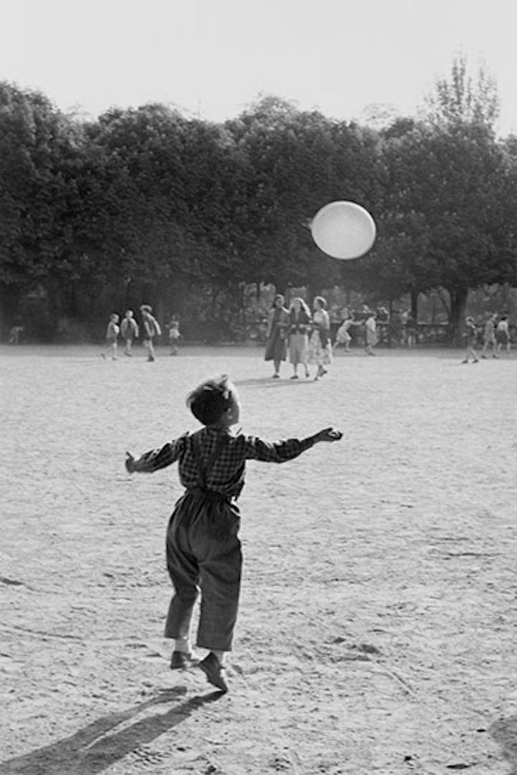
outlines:
[[374, 219], [355, 202], [329, 202], [311, 222], [312, 239], [323, 253], [333, 258], [359, 258], [375, 242]]

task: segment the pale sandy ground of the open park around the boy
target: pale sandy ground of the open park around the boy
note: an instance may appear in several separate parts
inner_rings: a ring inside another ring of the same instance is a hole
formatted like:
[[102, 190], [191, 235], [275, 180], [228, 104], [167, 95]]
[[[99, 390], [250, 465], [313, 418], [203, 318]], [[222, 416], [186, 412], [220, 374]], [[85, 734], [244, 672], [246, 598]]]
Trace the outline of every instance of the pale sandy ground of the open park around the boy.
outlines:
[[[515, 775], [517, 357], [459, 360], [0, 348], [0, 773]], [[345, 433], [248, 465], [226, 695], [168, 669], [175, 467], [123, 468], [222, 371], [246, 431]]]

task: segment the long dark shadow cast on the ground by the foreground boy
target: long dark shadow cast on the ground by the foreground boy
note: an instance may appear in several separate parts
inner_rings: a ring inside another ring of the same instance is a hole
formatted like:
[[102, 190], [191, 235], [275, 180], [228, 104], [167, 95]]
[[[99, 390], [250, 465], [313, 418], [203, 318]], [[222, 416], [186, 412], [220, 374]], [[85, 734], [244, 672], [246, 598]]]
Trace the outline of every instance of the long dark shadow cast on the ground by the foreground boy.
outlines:
[[[223, 696], [220, 691], [192, 697], [184, 702], [174, 702], [185, 694], [184, 687], [161, 691], [150, 700], [134, 705], [126, 711], [111, 713], [99, 718], [84, 729], [79, 729], [71, 737], [54, 742], [51, 746], [37, 748], [23, 756], [15, 756], [0, 765], [2, 775], [63, 775], [63, 773], [81, 773], [95, 775], [106, 770], [123, 756], [151, 742], [169, 729], [181, 724], [189, 715], [202, 705], [215, 702]], [[156, 713], [142, 718], [119, 732], [109, 734], [112, 729], [129, 722], [141, 711], [164, 702], [174, 702], [166, 713]]]

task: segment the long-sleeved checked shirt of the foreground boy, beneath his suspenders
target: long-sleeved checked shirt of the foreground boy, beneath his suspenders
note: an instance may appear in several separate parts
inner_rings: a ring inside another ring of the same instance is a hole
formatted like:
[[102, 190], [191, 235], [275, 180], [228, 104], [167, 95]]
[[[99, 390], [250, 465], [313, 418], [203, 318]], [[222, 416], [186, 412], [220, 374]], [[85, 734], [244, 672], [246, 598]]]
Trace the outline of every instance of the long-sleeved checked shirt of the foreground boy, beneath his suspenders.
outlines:
[[[267, 442], [257, 436], [245, 436], [238, 433], [231, 436], [217, 428], [203, 428], [198, 431], [203, 463], [211, 456], [217, 440], [224, 434], [226, 443], [209, 471], [206, 487], [209, 490], [236, 498], [244, 485], [246, 460], [262, 460], [264, 463], [286, 463], [293, 460], [305, 449], [313, 445], [312, 438], [285, 439], [284, 441]], [[134, 470], [151, 474], [160, 468], [166, 468], [179, 461], [181, 484], [187, 489], [200, 486], [198, 466], [192, 449], [192, 436], [183, 433], [178, 439], [167, 442], [160, 449], [150, 449], [139, 460], [135, 460]]]

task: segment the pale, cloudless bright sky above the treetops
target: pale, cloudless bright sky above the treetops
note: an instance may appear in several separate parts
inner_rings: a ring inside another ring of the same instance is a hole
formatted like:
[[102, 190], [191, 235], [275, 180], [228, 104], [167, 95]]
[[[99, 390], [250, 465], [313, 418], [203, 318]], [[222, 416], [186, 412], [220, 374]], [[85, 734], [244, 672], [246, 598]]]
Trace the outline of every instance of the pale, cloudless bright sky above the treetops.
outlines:
[[0, 80], [63, 110], [175, 103], [237, 115], [259, 92], [360, 118], [411, 115], [460, 51], [517, 133], [515, 0], [2, 0]]

